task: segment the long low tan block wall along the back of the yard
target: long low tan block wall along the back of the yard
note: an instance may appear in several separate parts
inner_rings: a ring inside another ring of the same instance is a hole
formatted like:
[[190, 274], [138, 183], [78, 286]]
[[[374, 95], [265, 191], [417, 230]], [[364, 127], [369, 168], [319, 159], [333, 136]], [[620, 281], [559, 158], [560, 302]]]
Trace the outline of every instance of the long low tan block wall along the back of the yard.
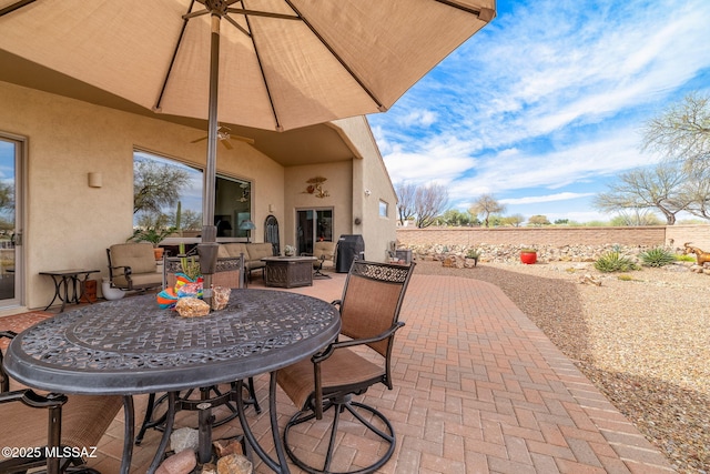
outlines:
[[[671, 241], [672, 240], [672, 241]], [[710, 225], [669, 225], [642, 228], [427, 228], [398, 229], [400, 245], [509, 244], [509, 245], [672, 245], [684, 242], [710, 251]]]

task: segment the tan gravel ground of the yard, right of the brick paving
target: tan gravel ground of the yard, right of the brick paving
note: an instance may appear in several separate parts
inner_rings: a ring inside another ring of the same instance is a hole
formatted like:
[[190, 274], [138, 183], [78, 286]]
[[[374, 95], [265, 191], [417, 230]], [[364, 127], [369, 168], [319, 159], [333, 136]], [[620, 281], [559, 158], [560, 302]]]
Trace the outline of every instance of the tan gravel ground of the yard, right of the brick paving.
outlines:
[[[604, 274], [591, 263], [417, 262], [490, 282], [535, 322], [680, 473], [710, 473], [710, 275], [682, 265]], [[585, 275], [600, 285], [580, 283]]]

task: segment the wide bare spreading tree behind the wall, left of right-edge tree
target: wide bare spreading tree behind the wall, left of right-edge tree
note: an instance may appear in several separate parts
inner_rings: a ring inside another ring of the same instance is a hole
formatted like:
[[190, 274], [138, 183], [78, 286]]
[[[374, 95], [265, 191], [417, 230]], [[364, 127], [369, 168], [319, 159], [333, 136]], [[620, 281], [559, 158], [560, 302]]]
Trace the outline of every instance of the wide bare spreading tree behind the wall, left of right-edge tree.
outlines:
[[686, 180], [687, 173], [673, 163], [639, 168], [621, 173], [617, 183], [608, 185], [609, 191], [597, 194], [594, 206], [606, 212], [657, 209], [672, 225], [676, 214], [689, 204], [682, 193]]

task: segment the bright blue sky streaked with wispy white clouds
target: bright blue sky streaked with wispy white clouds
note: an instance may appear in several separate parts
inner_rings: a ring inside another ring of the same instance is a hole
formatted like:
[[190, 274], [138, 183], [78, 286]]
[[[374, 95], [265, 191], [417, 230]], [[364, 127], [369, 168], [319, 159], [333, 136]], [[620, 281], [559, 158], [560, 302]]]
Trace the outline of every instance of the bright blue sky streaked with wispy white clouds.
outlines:
[[505, 214], [608, 220], [619, 173], [657, 162], [643, 123], [710, 93], [708, 0], [500, 0], [498, 17], [368, 115], [394, 183], [436, 181], [450, 208], [483, 193]]

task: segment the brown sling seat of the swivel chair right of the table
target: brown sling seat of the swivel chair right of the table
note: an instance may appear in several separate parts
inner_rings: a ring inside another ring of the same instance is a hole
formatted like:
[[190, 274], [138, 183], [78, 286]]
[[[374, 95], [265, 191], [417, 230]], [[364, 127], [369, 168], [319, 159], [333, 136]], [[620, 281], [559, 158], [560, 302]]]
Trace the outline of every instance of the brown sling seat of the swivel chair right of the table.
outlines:
[[[384, 362], [381, 366], [349, 349], [338, 349], [321, 363], [324, 399], [327, 399], [329, 393], [337, 393], [344, 387], [353, 385], [367, 387], [373, 381], [384, 376]], [[315, 387], [311, 357], [280, 370], [277, 381], [293, 403], [303, 407]]]

